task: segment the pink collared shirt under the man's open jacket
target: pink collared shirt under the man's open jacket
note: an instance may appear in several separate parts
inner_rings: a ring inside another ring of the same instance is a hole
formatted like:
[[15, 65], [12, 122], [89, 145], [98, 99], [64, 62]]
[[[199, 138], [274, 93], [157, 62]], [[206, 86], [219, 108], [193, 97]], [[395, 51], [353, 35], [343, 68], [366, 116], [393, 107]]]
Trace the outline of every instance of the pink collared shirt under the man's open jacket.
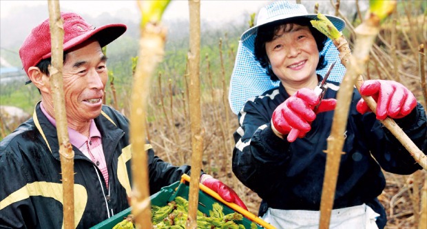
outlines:
[[[52, 118], [48, 112], [46, 112], [45, 108], [43, 107], [43, 103], [40, 103], [40, 108], [50, 123], [56, 127], [55, 119]], [[94, 119], [90, 120], [89, 137], [82, 135], [72, 128], [68, 128], [68, 135], [70, 137], [70, 143], [73, 146], [76, 146], [76, 148], [79, 148], [79, 150], [83, 152], [83, 155], [93, 161], [99, 170], [101, 170], [108, 188], [108, 170], [107, 163], [105, 163], [101, 133], [96, 127]]]

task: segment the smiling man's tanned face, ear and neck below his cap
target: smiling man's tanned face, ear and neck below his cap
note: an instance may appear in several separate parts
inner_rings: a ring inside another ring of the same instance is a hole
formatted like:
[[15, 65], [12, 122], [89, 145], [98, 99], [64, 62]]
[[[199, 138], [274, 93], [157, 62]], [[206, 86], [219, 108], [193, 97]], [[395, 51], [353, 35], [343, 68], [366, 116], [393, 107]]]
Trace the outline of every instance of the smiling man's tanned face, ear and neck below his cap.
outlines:
[[[106, 62], [107, 57], [96, 40], [81, 43], [65, 57], [63, 86], [68, 126], [85, 136], [89, 136], [92, 119], [101, 113], [103, 90], [108, 78]], [[35, 66], [29, 68], [28, 74], [41, 91], [41, 106], [50, 117], [54, 117], [50, 77]]]

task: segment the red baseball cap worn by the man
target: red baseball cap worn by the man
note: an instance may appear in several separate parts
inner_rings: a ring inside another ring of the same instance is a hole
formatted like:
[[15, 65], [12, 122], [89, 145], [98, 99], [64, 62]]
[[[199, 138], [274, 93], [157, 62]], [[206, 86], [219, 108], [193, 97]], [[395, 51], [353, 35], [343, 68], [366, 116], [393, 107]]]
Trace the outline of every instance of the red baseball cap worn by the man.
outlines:
[[[123, 24], [109, 24], [94, 28], [79, 14], [61, 12], [64, 28], [64, 52], [94, 37], [101, 47], [120, 37], [125, 31]], [[33, 28], [19, 49], [23, 69], [28, 74], [28, 68], [36, 66], [42, 59], [49, 58], [51, 53], [49, 19]]]

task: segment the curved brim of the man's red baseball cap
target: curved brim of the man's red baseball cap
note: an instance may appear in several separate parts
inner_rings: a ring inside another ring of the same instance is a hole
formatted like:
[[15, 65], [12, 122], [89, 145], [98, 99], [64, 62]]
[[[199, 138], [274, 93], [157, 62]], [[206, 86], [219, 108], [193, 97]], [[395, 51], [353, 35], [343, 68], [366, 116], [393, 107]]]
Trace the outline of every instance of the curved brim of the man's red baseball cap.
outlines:
[[[105, 26], [101, 26], [94, 30], [90, 30], [85, 34], [81, 34], [79, 37], [74, 37], [70, 41], [67, 41], [63, 44], [64, 52], [70, 50], [79, 44], [87, 41], [90, 38], [94, 38], [99, 42], [101, 47], [107, 46], [107, 44], [111, 43], [118, 37], [120, 37], [126, 31], [126, 26], [124, 24], [109, 24]], [[52, 56], [52, 52], [45, 54], [42, 59], [46, 59]]]

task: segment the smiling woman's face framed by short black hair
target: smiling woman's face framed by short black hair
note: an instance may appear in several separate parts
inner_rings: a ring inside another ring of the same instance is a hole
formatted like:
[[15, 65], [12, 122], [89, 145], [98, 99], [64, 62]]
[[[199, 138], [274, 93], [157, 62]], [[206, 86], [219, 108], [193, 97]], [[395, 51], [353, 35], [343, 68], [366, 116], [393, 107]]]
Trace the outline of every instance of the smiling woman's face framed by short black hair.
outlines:
[[308, 26], [288, 24], [280, 28], [265, 48], [271, 70], [282, 84], [305, 83], [313, 77], [317, 80], [319, 51]]

